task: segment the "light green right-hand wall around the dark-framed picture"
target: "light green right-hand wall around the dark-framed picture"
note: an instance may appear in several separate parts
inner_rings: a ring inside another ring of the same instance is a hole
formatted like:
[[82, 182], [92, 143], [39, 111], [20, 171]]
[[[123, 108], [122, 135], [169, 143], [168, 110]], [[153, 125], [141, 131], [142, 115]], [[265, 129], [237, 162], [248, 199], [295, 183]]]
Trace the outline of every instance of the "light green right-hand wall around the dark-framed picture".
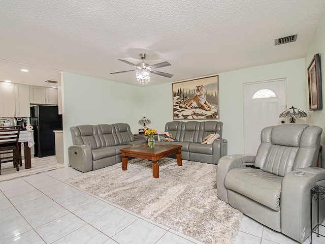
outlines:
[[[322, 80], [325, 79], [325, 12], [323, 13], [316, 33], [314, 35], [313, 41], [310, 44], [306, 57], [305, 57], [305, 70], [307, 70], [311, 59], [313, 58], [313, 56], [319, 53], [320, 56], [320, 64], [321, 64], [321, 71], [322, 71]], [[306, 72], [306, 106], [309, 110], [309, 95], [308, 95], [308, 78], [307, 78], [307, 72]], [[322, 97], [323, 97], [323, 107], [325, 106], [325, 99], [324, 99], [324, 95], [325, 95], [325, 85], [324, 82], [322, 82]], [[319, 126], [321, 127], [323, 130], [325, 130], [325, 111], [324, 111], [325, 107], [321, 110], [312, 110], [309, 111], [308, 113], [308, 124], [309, 125], [314, 125], [314, 126]], [[325, 145], [325, 131], [323, 131], [322, 135], [321, 135], [321, 145]], [[325, 153], [324, 153], [324, 149], [322, 152], [322, 167], [325, 168]]]

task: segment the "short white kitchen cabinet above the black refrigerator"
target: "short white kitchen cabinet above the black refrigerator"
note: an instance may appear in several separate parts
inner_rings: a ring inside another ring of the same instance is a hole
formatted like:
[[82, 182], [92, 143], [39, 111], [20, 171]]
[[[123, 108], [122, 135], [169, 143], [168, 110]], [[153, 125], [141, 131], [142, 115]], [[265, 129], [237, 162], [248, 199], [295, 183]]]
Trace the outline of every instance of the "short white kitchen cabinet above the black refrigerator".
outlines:
[[57, 88], [30, 85], [29, 95], [31, 104], [58, 104]]

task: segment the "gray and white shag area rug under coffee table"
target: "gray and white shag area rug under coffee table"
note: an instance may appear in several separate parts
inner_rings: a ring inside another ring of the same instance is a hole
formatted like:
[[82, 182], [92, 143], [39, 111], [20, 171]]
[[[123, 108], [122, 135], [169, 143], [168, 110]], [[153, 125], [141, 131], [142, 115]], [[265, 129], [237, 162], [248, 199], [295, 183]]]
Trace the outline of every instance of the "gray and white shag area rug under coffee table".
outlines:
[[234, 243], [242, 214], [217, 198], [216, 165], [176, 159], [132, 159], [74, 176], [67, 181], [156, 223], [204, 243]]

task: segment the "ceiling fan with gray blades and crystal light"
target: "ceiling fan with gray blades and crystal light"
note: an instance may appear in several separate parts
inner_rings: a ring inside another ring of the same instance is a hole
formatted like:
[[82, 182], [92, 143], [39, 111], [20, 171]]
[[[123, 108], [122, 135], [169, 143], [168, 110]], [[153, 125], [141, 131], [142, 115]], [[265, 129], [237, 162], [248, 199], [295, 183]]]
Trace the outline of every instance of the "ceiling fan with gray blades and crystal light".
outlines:
[[140, 53], [139, 56], [142, 59], [142, 63], [139, 63], [137, 65], [132, 64], [132, 63], [130, 63], [130, 62], [126, 61], [126, 60], [123, 60], [123, 59], [118, 59], [118, 60], [120, 60], [120, 61], [122, 61], [122, 62], [124, 62], [124, 63], [126, 63], [128, 65], [134, 66], [136, 68], [135, 70], [126, 70], [126, 71], [113, 72], [113, 73], [111, 73], [111, 75], [136, 71], [137, 80], [142, 84], [144, 84], [144, 83], [147, 84], [150, 81], [151, 74], [161, 75], [161, 76], [168, 77], [168, 78], [171, 78], [173, 76], [172, 74], [168, 74], [168, 73], [165, 73], [165, 72], [160, 72], [160, 71], [153, 70], [153, 69], [156, 69], [156, 68], [171, 66], [171, 64], [168, 63], [167, 61], [155, 64], [155, 65], [149, 65], [149, 64], [144, 63], [144, 59], [146, 58], [147, 54]]

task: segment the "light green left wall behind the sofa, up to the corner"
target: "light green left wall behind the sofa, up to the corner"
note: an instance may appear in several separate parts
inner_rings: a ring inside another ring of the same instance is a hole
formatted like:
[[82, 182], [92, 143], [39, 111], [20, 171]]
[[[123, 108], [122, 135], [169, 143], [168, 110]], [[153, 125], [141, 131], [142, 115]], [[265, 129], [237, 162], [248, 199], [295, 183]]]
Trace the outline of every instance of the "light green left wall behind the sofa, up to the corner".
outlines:
[[68, 72], [62, 72], [61, 77], [64, 165], [72, 145], [72, 126], [126, 122], [137, 130], [146, 104], [141, 87]]

